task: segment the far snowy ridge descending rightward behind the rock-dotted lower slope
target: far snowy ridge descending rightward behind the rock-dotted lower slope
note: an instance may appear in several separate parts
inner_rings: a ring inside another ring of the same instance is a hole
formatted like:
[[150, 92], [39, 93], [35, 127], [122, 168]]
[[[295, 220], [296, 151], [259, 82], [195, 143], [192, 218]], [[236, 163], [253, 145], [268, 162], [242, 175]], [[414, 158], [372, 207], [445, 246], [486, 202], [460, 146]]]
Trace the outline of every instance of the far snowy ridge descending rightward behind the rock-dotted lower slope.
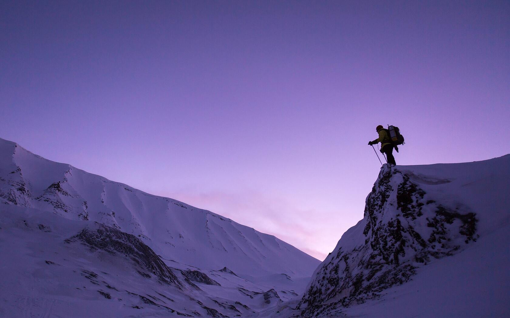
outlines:
[[310, 277], [319, 262], [271, 235], [210, 211], [57, 163], [0, 139], [0, 203], [97, 221], [133, 234], [157, 254], [201, 269]]

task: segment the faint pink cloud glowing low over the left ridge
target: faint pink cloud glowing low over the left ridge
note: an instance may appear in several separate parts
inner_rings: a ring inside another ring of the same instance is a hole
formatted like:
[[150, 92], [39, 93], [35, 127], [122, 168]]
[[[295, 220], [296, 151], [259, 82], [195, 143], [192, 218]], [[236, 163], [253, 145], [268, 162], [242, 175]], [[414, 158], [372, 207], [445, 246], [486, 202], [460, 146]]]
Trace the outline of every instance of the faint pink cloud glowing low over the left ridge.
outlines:
[[282, 198], [257, 191], [165, 193], [177, 200], [218, 213], [234, 221], [274, 235], [320, 260], [336, 245], [341, 233], [335, 226], [324, 228], [326, 212], [302, 210]]

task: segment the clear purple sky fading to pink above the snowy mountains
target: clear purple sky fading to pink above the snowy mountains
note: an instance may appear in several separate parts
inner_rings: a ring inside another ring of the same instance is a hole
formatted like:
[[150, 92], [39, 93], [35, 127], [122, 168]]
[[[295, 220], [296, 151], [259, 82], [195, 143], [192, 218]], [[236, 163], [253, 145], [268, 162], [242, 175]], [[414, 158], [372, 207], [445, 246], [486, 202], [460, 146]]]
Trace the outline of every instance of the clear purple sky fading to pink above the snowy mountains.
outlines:
[[2, 1], [0, 27], [0, 137], [320, 259], [375, 126], [397, 164], [510, 152], [508, 1]]

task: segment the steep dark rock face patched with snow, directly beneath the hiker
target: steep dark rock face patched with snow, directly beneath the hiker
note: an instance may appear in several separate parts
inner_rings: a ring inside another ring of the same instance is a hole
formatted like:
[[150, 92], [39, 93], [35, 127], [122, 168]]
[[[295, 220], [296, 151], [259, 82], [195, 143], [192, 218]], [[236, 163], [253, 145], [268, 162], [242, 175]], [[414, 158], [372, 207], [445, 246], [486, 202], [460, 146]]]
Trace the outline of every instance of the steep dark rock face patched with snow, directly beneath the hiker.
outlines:
[[378, 297], [409, 280], [418, 267], [476, 241], [476, 227], [474, 213], [441, 205], [409, 174], [385, 165], [366, 199], [363, 220], [314, 273], [298, 305], [301, 316], [325, 317], [333, 308]]

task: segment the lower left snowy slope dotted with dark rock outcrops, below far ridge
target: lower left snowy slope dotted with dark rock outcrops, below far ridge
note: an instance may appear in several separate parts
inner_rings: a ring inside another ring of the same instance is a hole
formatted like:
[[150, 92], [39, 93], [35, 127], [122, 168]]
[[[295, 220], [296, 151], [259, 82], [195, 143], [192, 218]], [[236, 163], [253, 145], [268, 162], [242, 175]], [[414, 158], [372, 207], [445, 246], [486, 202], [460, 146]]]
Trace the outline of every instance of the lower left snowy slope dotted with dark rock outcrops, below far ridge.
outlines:
[[0, 215], [0, 317], [232, 317], [297, 296], [229, 270], [165, 264], [101, 223], [16, 205]]

